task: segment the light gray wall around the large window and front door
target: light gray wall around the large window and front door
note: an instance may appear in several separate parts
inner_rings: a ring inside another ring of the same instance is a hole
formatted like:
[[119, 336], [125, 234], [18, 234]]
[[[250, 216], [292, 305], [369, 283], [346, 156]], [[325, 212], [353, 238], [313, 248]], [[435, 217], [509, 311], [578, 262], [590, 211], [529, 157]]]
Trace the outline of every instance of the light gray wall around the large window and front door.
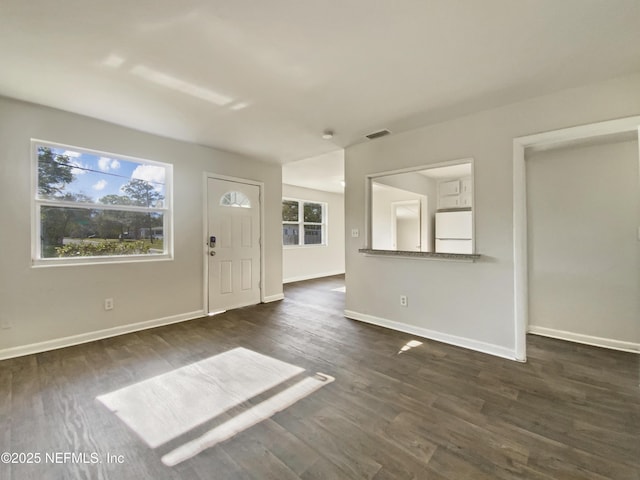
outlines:
[[[31, 267], [30, 139], [174, 165], [173, 261]], [[0, 98], [2, 349], [203, 311], [203, 172], [265, 183], [265, 295], [282, 293], [281, 167]], [[103, 309], [113, 297], [115, 309]]]

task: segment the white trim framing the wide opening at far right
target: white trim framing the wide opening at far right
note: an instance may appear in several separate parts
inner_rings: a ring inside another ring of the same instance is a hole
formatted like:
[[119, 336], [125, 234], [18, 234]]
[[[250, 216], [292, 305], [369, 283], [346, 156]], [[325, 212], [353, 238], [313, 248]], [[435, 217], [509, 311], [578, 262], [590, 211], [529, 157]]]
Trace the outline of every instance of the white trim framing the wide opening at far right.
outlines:
[[535, 147], [560, 146], [563, 143], [629, 132], [635, 132], [640, 141], [640, 116], [590, 123], [513, 139], [514, 353], [515, 359], [520, 362], [527, 360], [527, 330], [529, 326], [525, 150]]

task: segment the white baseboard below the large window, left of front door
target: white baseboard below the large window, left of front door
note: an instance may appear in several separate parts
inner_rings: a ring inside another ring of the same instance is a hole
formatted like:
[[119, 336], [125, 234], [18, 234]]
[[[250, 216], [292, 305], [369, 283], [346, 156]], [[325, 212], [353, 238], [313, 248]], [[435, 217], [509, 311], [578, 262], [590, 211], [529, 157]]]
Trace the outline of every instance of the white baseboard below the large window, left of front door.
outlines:
[[103, 338], [117, 337], [118, 335], [124, 335], [126, 333], [139, 332], [140, 330], [147, 330], [149, 328], [161, 327], [163, 325], [170, 325], [172, 323], [184, 322], [187, 320], [194, 320], [196, 318], [204, 317], [205, 315], [206, 314], [204, 310], [198, 310], [195, 312], [182, 313], [180, 315], [172, 315], [170, 317], [158, 318], [155, 320], [147, 320], [145, 322], [130, 323], [128, 325], [105, 328], [104, 330], [97, 330], [95, 332], [81, 333], [79, 335], [72, 335], [70, 337], [62, 337], [53, 340], [46, 340], [44, 342], [31, 343], [29, 345], [22, 345], [20, 347], [5, 348], [3, 350], [0, 350], [0, 360], [22, 357], [24, 355], [31, 355], [33, 353], [46, 352], [48, 350], [55, 350], [57, 348], [71, 347], [73, 345], [79, 345], [81, 343], [102, 340]]

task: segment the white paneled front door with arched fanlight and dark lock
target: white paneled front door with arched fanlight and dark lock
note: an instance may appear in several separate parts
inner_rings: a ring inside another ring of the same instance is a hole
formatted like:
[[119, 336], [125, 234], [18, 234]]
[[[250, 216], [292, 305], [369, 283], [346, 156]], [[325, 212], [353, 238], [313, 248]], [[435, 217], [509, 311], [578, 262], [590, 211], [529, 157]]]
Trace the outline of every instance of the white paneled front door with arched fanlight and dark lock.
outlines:
[[260, 303], [260, 187], [207, 179], [209, 313]]

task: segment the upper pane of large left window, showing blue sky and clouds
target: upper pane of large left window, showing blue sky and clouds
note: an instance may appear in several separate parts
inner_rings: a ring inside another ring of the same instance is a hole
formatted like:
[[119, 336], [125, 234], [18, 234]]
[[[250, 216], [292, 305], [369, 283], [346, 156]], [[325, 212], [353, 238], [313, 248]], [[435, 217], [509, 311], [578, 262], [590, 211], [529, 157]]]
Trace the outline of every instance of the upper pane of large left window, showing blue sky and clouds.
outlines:
[[163, 166], [38, 145], [40, 199], [162, 208]]

